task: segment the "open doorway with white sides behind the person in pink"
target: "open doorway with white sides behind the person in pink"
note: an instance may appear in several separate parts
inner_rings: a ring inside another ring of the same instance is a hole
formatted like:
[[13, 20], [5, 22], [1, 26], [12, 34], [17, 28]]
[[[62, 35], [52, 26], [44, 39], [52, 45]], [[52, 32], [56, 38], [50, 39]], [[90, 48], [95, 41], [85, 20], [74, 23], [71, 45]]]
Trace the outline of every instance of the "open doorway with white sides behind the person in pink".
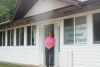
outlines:
[[59, 54], [60, 54], [60, 25], [58, 23], [47, 24], [42, 26], [42, 44], [43, 44], [43, 65], [45, 66], [45, 46], [44, 40], [48, 32], [52, 32], [55, 38], [55, 47], [54, 47], [54, 67], [60, 67], [59, 64]]

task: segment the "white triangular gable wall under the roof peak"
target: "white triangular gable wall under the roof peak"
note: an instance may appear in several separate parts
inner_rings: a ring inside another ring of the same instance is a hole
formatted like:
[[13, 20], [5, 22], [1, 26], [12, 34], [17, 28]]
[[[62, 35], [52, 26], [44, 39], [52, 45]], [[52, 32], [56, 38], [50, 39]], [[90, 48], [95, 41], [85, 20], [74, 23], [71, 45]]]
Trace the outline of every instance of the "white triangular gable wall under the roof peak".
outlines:
[[33, 16], [57, 8], [68, 6], [67, 3], [57, 0], [39, 0], [26, 14], [25, 17]]

